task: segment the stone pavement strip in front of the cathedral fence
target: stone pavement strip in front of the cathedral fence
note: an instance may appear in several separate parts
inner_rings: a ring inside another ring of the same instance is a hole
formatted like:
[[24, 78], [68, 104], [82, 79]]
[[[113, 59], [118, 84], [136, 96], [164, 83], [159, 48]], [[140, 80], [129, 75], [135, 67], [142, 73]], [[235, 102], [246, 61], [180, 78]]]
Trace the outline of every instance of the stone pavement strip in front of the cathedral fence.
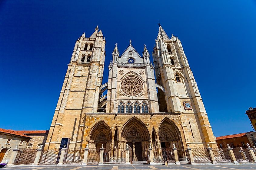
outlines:
[[235, 169], [256, 169], [256, 164], [248, 165], [62, 165], [62, 166], [16, 166], [16, 167], [5, 167], [2, 170], [125, 170], [125, 169], [195, 169], [195, 170], [205, 170], [205, 169], [223, 169], [223, 170], [235, 170]]

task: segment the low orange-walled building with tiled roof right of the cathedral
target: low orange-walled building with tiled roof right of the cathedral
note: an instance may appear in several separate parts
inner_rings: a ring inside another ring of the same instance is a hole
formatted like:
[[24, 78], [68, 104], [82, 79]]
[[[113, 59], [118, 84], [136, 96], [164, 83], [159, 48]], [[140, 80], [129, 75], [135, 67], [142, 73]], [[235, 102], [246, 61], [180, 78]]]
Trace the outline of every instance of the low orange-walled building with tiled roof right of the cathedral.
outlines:
[[219, 148], [227, 148], [229, 144], [232, 148], [247, 148], [247, 143], [252, 147], [256, 146], [256, 132], [245, 132], [233, 135], [216, 137]]

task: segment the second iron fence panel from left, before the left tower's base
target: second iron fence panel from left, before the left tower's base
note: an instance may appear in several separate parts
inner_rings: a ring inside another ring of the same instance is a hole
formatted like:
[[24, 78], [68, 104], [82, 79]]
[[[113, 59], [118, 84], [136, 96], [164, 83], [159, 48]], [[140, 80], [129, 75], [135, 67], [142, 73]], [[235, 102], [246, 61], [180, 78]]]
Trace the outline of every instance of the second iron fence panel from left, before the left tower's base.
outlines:
[[44, 149], [42, 151], [38, 165], [57, 164], [59, 162], [59, 157], [60, 157], [59, 149], [57, 149], [57, 148]]

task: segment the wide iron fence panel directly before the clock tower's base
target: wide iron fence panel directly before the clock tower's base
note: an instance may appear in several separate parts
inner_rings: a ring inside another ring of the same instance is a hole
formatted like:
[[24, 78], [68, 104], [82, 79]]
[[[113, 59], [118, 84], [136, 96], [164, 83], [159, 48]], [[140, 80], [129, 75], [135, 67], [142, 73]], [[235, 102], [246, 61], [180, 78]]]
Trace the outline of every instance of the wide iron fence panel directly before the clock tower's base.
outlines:
[[194, 162], [207, 163], [211, 162], [211, 158], [207, 148], [191, 148]]

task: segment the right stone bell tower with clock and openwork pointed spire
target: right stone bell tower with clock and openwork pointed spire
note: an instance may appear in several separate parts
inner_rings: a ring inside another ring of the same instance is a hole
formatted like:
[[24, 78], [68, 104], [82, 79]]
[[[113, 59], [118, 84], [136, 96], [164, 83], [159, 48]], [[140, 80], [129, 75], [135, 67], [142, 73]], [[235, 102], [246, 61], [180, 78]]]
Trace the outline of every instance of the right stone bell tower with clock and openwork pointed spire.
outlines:
[[166, 103], [165, 111], [181, 113], [187, 144], [216, 144], [181, 41], [174, 35], [169, 38], [159, 25], [155, 42], [153, 59], [156, 82], [165, 88], [165, 92], [159, 94], [163, 101], [159, 103]]

